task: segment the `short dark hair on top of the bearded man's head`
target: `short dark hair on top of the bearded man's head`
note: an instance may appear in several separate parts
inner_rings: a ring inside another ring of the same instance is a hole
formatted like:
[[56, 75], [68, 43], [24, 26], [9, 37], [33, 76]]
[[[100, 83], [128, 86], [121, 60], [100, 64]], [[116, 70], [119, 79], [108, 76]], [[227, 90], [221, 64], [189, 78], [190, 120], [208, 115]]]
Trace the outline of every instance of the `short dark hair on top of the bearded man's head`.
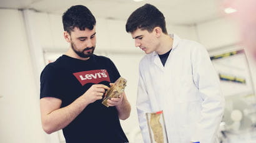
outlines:
[[75, 27], [80, 30], [85, 30], [86, 28], [92, 30], [96, 24], [96, 19], [92, 15], [92, 12], [82, 5], [71, 6], [62, 15], [62, 24], [64, 30], [71, 34], [71, 31]]

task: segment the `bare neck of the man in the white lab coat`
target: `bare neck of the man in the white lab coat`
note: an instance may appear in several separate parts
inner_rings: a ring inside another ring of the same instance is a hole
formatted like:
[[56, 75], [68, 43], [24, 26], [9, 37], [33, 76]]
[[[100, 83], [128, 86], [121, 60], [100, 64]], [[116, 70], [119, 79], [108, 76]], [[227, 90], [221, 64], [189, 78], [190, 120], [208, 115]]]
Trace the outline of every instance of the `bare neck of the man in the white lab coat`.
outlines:
[[159, 55], [167, 53], [170, 49], [172, 49], [174, 39], [172, 39], [169, 35], [163, 34], [159, 40], [159, 50], [156, 51]]

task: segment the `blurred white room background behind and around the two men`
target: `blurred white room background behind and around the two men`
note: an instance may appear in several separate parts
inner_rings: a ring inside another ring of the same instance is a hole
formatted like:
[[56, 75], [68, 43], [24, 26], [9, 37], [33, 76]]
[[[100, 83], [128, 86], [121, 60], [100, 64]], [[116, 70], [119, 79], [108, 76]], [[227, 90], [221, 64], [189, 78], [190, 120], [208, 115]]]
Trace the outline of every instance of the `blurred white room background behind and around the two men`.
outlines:
[[0, 0], [0, 142], [65, 142], [62, 131], [51, 135], [42, 131], [39, 76], [47, 63], [69, 48], [61, 16], [77, 4], [87, 6], [96, 17], [95, 53], [111, 58], [128, 80], [132, 112], [121, 124], [130, 142], [143, 142], [135, 99], [144, 52], [134, 46], [125, 24], [145, 3], [162, 11], [169, 34], [207, 48], [226, 99], [220, 142], [256, 142], [256, 63], [243, 50], [232, 18], [237, 9], [225, 6], [224, 0]]

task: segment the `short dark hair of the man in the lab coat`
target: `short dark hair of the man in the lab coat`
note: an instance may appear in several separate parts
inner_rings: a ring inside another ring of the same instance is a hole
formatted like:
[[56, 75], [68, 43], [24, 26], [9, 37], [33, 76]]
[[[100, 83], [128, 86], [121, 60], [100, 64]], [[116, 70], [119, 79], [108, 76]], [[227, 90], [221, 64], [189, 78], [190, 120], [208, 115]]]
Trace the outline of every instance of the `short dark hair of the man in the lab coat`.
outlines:
[[164, 14], [157, 7], [145, 4], [130, 14], [126, 22], [126, 32], [134, 32], [137, 29], [152, 32], [157, 26], [167, 34]]

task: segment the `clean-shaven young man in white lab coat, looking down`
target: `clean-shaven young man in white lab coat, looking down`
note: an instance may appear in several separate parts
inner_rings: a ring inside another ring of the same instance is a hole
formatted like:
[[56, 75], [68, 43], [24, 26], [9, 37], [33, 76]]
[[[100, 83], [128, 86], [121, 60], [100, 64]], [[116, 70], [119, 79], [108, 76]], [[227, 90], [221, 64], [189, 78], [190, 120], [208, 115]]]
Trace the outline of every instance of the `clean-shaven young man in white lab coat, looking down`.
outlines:
[[162, 12], [150, 4], [132, 12], [126, 31], [147, 54], [137, 95], [144, 142], [150, 142], [145, 113], [162, 110], [169, 142], [217, 143], [224, 96], [205, 47], [167, 34]]

